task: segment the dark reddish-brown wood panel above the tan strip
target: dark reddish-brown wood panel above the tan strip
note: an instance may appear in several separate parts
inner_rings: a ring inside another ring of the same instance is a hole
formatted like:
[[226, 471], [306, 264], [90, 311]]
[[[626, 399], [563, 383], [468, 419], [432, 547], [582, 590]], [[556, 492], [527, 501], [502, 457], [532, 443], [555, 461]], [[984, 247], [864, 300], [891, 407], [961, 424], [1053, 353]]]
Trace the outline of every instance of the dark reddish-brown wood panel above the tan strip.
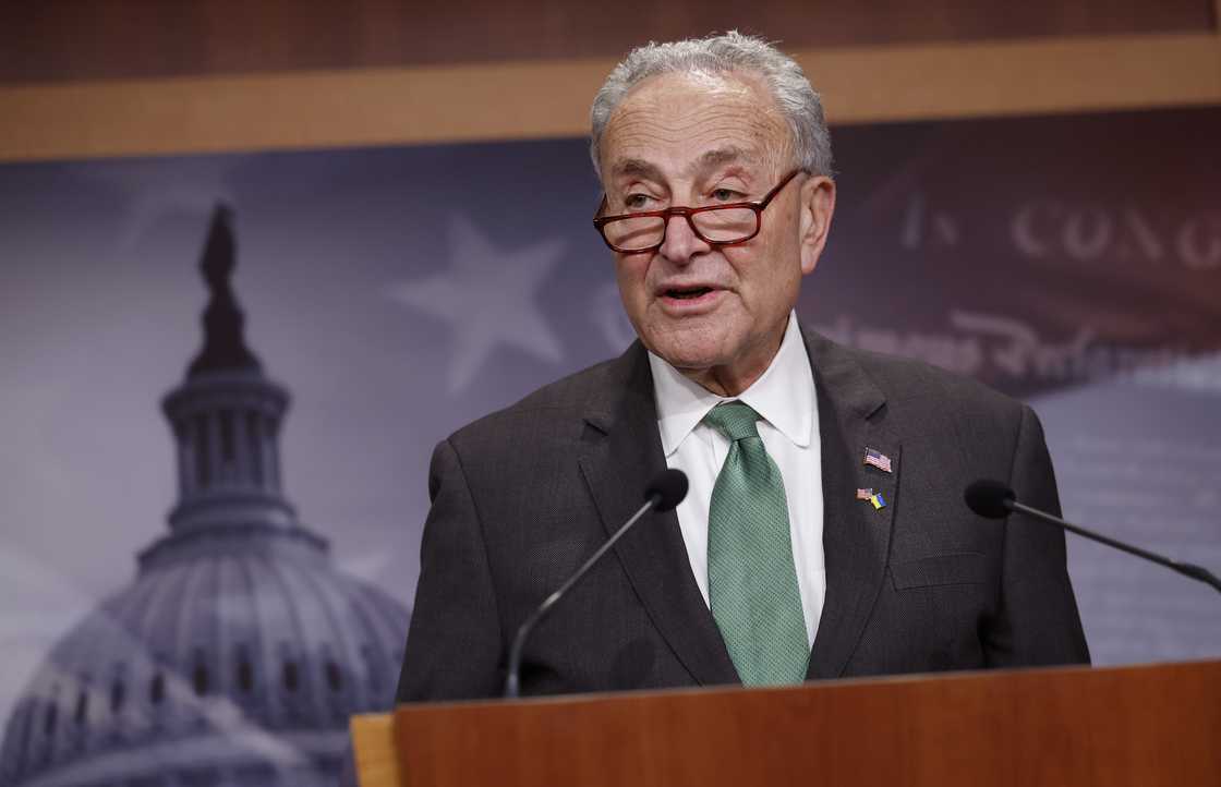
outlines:
[[38, 0], [0, 5], [0, 82], [615, 57], [730, 28], [816, 50], [1215, 27], [1212, 0]]

